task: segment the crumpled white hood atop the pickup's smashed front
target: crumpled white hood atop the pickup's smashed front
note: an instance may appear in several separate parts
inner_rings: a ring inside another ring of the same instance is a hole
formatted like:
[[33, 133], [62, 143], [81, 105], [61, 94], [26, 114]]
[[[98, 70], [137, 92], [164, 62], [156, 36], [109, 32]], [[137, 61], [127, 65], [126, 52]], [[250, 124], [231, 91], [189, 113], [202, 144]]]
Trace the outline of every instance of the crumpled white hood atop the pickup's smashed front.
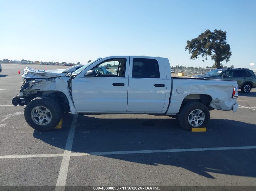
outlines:
[[53, 78], [65, 76], [67, 73], [63, 73], [63, 70], [36, 70], [27, 67], [22, 72], [22, 78]]

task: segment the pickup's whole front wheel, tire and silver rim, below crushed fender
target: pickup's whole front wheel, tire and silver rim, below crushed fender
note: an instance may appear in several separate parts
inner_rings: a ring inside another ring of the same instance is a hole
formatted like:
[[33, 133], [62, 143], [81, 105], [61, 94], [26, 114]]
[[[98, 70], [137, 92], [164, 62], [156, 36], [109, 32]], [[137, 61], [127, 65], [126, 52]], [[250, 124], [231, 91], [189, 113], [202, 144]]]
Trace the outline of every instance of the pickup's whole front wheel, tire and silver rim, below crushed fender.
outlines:
[[24, 110], [28, 125], [38, 131], [54, 129], [62, 118], [62, 110], [57, 101], [50, 97], [36, 97]]

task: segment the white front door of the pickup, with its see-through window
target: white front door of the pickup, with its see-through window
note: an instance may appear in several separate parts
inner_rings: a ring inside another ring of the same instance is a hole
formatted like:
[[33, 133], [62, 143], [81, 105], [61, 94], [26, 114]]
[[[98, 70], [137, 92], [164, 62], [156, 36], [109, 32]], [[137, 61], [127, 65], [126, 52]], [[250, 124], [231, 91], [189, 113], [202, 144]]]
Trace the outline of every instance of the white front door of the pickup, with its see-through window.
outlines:
[[[104, 66], [111, 65], [104, 72]], [[117, 72], [114, 69], [118, 68]], [[76, 77], [72, 81], [72, 96], [78, 112], [125, 112], [127, 109], [129, 56], [115, 57], [89, 68], [97, 76]]]

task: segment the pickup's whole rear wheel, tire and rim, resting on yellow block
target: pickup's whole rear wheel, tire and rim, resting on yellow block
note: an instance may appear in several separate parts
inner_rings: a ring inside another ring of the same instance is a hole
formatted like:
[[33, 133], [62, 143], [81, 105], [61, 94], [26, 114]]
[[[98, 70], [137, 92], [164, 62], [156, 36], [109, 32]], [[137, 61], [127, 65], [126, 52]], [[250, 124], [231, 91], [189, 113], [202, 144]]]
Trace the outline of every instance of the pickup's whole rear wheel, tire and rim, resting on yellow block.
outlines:
[[183, 129], [205, 127], [210, 119], [208, 107], [200, 102], [190, 102], [179, 113], [179, 122]]

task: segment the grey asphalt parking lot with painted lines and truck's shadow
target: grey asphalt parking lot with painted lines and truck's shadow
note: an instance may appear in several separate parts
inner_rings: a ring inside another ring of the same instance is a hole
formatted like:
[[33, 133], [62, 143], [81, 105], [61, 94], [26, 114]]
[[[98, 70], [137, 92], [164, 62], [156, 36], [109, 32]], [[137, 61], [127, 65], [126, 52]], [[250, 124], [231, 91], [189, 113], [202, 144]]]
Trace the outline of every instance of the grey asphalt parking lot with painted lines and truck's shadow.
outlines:
[[256, 88], [239, 91], [237, 112], [211, 111], [207, 132], [170, 116], [70, 113], [38, 132], [11, 103], [26, 65], [1, 65], [0, 186], [256, 186]]

